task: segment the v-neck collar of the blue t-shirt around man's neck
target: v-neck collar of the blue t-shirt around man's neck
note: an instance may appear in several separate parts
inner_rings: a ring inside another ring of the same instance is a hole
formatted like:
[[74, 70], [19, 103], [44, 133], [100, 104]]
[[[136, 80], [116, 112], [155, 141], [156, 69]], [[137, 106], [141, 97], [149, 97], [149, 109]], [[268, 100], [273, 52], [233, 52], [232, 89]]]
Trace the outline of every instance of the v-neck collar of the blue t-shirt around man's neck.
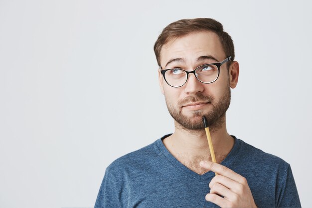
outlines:
[[[167, 148], [164, 146], [162, 140], [166, 137], [170, 136], [171, 134], [165, 135], [161, 137], [160, 139], [156, 140], [156, 145], [159, 148], [162, 155], [175, 167], [178, 169], [178, 171], [181, 171], [182, 173], [185, 173], [188, 177], [197, 180], [197, 181], [205, 181], [209, 178], [213, 178], [215, 174], [212, 171], [208, 171], [207, 173], [203, 175], [199, 175], [192, 170], [188, 169], [186, 166], [184, 166], [182, 163], [180, 163], [171, 153], [167, 150]], [[232, 136], [232, 135], [231, 135]], [[230, 153], [226, 156], [226, 158], [221, 162], [221, 165], [223, 166], [229, 166], [233, 160], [235, 159], [240, 146], [241, 141], [237, 139], [235, 136], [232, 136], [234, 138], [234, 146]]]

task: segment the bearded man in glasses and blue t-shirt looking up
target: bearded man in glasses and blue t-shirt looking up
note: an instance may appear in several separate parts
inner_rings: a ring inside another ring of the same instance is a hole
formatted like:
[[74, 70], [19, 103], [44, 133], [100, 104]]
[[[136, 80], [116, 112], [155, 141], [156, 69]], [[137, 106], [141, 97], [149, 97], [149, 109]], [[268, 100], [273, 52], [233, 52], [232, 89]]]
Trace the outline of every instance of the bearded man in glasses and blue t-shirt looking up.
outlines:
[[114, 161], [95, 208], [301, 207], [290, 165], [227, 133], [239, 64], [222, 24], [178, 20], [163, 29], [154, 50], [175, 131]]

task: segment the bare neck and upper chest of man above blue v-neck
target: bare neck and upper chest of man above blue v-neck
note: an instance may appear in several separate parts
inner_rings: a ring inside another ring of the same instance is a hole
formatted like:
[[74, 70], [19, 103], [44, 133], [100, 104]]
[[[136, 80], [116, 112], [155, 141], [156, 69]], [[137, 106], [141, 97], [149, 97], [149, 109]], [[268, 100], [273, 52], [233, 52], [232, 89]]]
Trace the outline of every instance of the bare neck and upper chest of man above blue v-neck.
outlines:
[[[234, 145], [234, 139], [226, 130], [225, 115], [220, 119], [224, 122], [209, 128], [217, 163], [224, 160]], [[205, 129], [186, 130], [175, 123], [174, 133], [165, 138], [163, 143], [168, 151], [184, 165], [197, 163], [198, 160], [211, 161]]]

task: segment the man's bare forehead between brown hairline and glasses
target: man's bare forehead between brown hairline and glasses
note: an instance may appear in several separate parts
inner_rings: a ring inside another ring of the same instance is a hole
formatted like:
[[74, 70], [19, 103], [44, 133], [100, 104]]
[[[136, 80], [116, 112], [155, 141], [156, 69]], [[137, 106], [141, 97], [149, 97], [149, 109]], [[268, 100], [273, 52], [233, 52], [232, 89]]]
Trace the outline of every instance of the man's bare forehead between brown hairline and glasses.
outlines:
[[183, 58], [193, 63], [200, 56], [211, 55], [222, 61], [225, 53], [218, 35], [215, 32], [194, 32], [172, 39], [160, 50], [160, 63], [164, 66], [169, 60]]

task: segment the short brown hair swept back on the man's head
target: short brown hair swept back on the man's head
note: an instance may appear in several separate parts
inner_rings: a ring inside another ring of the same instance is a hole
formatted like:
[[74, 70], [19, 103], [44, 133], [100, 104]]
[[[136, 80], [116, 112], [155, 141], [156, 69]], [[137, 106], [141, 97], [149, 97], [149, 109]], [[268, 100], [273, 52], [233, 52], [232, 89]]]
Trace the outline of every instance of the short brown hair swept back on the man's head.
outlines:
[[[160, 50], [164, 44], [173, 38], [182, 37], [193, 32], [212, 31], [217, 34], [226, 57], [232, 56], [229, 63], [234, 60], [234, 44], [231, 36], [223, 30], [223, 25], [211, 18], [180, 19], [168, 24], [158, 36], [154, 52], [157, 64], [160, 66]], [[228, 64], [229, 66], [229, 64]]]

